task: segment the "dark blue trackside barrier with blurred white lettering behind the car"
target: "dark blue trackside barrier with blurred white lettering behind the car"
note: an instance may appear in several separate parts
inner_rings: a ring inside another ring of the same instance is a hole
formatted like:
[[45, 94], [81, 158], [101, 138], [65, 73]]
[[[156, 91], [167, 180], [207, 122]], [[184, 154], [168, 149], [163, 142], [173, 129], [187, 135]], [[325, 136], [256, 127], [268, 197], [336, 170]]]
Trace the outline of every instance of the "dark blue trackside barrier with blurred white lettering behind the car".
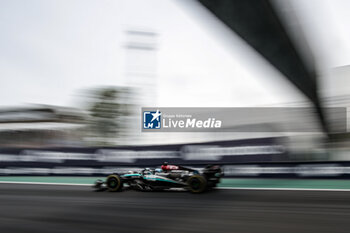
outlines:
[[0, 176], [99, 176], [169, 163], [220, 164], [225, 177], [350, 178], [349, 162], [288, 162], [281, 138], [161, 146], [0, 149]]

